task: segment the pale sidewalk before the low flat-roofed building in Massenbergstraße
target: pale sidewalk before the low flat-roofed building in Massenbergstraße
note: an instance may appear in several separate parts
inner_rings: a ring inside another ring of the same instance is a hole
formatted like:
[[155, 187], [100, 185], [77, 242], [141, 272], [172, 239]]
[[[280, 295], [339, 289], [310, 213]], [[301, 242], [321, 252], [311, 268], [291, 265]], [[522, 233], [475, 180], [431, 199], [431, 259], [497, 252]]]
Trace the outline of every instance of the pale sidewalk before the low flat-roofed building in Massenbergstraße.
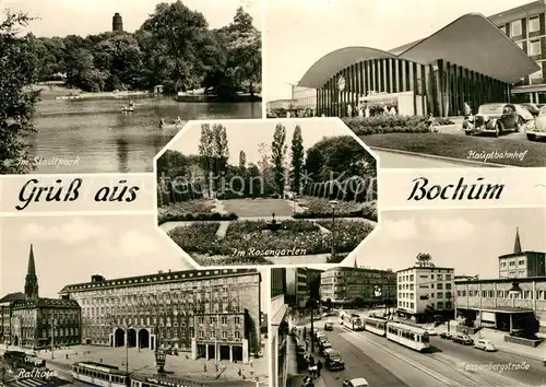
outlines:
[[[438, 333], [447, 332], [448, 326], [446, 324], [442, 324], [442, 325], [439, 325], [438, 327], [436, 327], [435, 330]], [[451, 325], [450, 325], [450, 332], [451, 333], [456, 332], [456, 322], [453, 320], [451, 321]], [[490, 328], [482, 328], [476, 335], [470, 335], [470, 337], [473, 339], [480, 338], [484, 340], [489, 340], [501, 352], [508, 352], [508, 353], [512, 353], [512, 354], [520, 355], [520, 356], [536, 359], [539, 361], [543, 361], [546, 359], [546, 344], [544, 342], [541, 343], [538, 347], [534, 347], [534, 348], [533, 347], [525, 347], [525, 345], [515, 344], [513, 342], [505, 341], [506, 335], [507, 335], [507, 332], [503, 332], [500, 330], [495, 330], [495, 329], [490, 329]]]

